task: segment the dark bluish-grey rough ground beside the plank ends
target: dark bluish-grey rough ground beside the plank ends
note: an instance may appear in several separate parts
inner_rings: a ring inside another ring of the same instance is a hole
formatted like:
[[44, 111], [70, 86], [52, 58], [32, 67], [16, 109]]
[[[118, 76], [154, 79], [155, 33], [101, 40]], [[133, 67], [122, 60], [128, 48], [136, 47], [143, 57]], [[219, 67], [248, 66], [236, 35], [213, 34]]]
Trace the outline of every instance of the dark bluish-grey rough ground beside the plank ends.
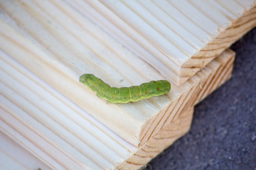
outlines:
[[231, 79], [195, 106], [191, 130], [144, 170], [256, 170], [256, 28], [231, 49]]

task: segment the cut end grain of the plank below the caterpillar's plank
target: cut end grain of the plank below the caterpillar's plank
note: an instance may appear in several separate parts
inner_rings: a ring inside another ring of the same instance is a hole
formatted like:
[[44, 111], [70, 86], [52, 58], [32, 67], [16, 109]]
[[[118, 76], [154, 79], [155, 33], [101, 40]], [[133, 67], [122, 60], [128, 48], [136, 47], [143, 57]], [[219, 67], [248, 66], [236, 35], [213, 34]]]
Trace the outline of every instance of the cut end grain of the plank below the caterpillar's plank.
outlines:
[[152, 137], [152, 139], [148, 141], [148, 144], [139, 148], [134, 155], [123, 163], [119, 164], [115, 170], [138, 170], [143, 168], [146, 163], [148, 163], [169, 145], [173, 144], [175, 140], [189, 131], [193, 111], [194, 107], [191, 107], [180, 114], [175, 121], [171, 121], [168, 127], [159, 131], [155, 137]]

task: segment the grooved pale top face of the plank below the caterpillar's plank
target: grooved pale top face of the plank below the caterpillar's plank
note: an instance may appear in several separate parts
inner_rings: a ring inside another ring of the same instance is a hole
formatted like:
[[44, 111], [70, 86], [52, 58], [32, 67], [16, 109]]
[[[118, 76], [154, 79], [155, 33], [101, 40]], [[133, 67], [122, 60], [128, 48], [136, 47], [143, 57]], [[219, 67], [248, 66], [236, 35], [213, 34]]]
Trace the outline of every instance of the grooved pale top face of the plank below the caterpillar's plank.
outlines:
[[110, 169], [128, 143], [26, 68], [0, 53], [0, 127], [53, 169]]

